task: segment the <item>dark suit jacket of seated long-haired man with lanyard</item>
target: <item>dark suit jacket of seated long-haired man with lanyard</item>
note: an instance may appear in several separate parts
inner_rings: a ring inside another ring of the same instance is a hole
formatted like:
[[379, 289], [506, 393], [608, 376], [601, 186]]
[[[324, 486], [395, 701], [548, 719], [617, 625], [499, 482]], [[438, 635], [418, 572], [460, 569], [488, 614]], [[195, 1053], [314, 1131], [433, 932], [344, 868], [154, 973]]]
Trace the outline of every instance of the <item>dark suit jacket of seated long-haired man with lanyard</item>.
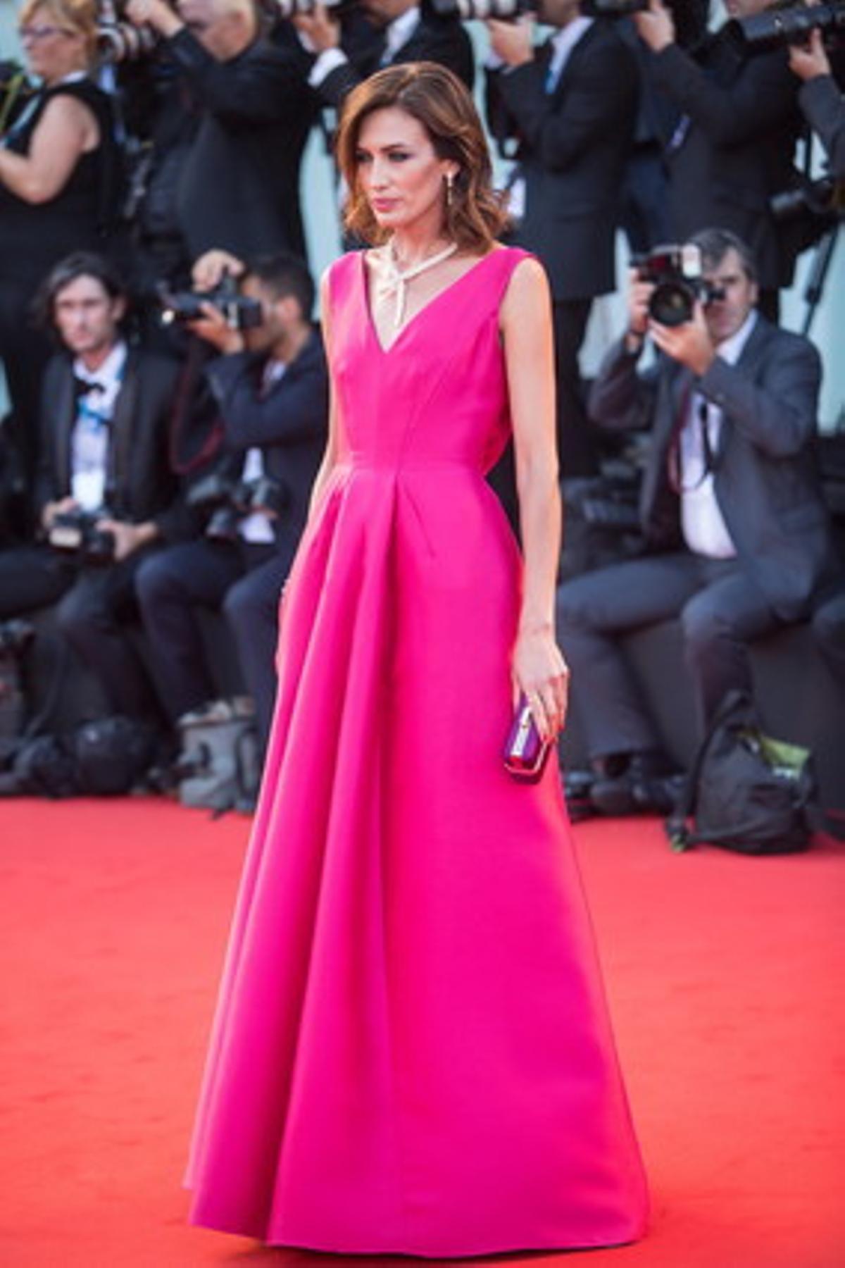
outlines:
[[[114, 407], [108, 454], [108, 506], [130, 524], [153, 520], [162, 538], [177, 541], [191, 522], [170, 464], [170, 424], [179, 365], [163, 356], [130, 349]], [[41, 449], [35, 476], [35, 510], [71, 492], [71, 434], [76, 422], [73, 366], [67, 353], [44, 372]]]

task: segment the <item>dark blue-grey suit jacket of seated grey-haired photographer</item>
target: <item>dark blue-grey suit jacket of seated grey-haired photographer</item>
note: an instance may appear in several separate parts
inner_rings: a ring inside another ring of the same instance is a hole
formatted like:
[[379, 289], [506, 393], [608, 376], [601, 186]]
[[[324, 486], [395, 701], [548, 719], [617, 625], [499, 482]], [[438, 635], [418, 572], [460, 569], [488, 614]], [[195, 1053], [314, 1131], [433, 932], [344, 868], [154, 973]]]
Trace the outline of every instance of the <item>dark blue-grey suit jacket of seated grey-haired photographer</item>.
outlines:
[[[642, 526], [652, 545], [677, 545], [668, 454], [694, 377], [668, 358], [639, 375], [636, 361], [621, 342], [609, 350], [590, 416], [611, 427], [651, 426]], [[742, 567], [784, 620], [803, 615], [837, 567], [815, 451], [820, 382], [813, 345], [758, 313], [737, 364], [717, 356], [698, 383], [723, 411], [713, 464], [720, 510]]]

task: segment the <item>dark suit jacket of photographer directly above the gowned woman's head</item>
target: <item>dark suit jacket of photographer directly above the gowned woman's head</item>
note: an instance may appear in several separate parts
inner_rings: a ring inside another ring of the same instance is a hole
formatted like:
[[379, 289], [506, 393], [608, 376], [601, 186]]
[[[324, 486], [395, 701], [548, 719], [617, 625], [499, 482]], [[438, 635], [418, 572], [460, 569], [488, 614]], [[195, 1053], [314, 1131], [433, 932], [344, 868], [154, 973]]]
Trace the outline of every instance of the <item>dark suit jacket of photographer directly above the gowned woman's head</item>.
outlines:
[[[343, 66], [336, 66], [334, 70], [329, 71], [318, 86], [317, 93], [321, 100], [326, 105], [340, 109], [347, 93], [380, 68], [383, 48], [384, 41], [378, 34], [372, 39], [367, 39], [366, 43], [359, 39], [355, 46], [346, 47], [343, 44], [350, 60]], [[456, 18], [436, 18], [432, 14], [423, 14], [410, 38], [397, 49], [389, 65], [407, 66], [408, 62], [438, 62], [440, 66], [446, 66], [459, 79], [462, 79], [467, 87], [473, 87], [475, 76], [473, 44]]]

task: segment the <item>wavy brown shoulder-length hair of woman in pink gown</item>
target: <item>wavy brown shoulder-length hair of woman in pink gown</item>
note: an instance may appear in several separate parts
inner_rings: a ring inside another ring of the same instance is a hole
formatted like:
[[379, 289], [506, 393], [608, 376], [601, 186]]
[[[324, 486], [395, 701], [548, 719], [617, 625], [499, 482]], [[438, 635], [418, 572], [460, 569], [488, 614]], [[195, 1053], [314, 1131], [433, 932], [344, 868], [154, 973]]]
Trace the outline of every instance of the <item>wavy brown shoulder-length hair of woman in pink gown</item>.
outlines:
[[493, 166], [481, 120], [461, 80], [435, 62], [388, 66], [350, 93], [337, 134], [337, 161], [350, 190], [343, 214], [347, 230], [376, 245], [390, 236], [361, 190], [357, 150], [367, 115], [393, 107], [422, 123], [438, 158], [457, 164], [450, 200], [443, 184], [446, 235], [462, 251], [489, 251], [507, 227], [508, 216], [502, 195], [493, 189]]

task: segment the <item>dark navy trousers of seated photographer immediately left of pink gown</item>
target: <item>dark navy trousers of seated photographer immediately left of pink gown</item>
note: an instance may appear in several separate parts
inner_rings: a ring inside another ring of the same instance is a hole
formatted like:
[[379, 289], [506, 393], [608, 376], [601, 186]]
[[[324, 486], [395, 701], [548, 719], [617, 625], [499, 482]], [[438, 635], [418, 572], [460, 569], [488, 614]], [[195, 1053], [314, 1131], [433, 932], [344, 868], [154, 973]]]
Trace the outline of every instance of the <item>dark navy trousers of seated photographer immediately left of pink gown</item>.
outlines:
[[276, 696], [279, 596], [290, 552], [276, 545], [187, 541], [149, 559], [138, 576], [138, 602], [162, 705], [171, 721], [218, 695], [198, 623], [200, 607], [223, 609], [241, 672], [255, 700], [262, 747]]

